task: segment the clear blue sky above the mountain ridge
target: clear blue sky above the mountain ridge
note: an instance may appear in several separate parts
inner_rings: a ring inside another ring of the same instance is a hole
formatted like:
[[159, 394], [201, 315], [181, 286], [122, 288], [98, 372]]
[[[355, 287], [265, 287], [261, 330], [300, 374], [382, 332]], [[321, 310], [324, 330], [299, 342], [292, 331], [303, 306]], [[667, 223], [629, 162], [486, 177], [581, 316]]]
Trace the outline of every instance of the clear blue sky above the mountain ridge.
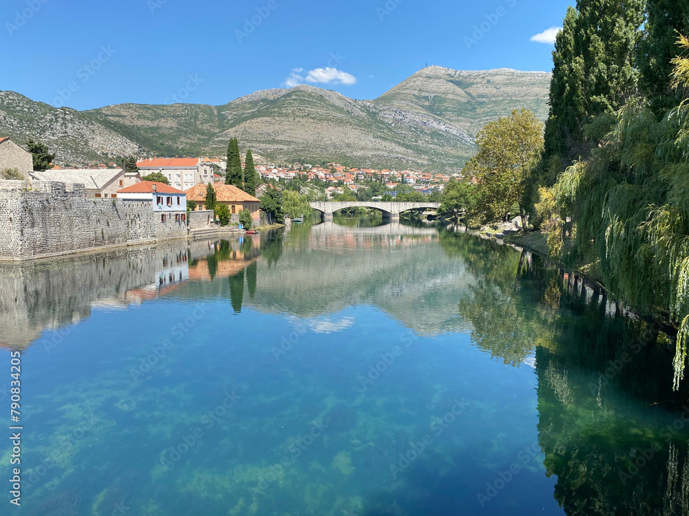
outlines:
[[92, 109], [307, 83], [376, 98], [429, 65], [552, 68], [565, 0], [3, 0], [0, 89]]

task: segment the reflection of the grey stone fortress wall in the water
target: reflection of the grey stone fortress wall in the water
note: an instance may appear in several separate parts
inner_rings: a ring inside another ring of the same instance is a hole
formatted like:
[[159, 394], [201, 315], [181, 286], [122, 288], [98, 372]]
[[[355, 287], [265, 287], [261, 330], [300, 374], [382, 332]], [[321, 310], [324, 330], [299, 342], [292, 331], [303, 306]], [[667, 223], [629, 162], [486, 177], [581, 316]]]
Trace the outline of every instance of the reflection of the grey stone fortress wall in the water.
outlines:
[[160, 272], [186, 257], [183, 241], [0, 265], [0, 343], [29, 345], [44, 328], [88, 318], [94, 305], [140, 303], [158, 292]]

